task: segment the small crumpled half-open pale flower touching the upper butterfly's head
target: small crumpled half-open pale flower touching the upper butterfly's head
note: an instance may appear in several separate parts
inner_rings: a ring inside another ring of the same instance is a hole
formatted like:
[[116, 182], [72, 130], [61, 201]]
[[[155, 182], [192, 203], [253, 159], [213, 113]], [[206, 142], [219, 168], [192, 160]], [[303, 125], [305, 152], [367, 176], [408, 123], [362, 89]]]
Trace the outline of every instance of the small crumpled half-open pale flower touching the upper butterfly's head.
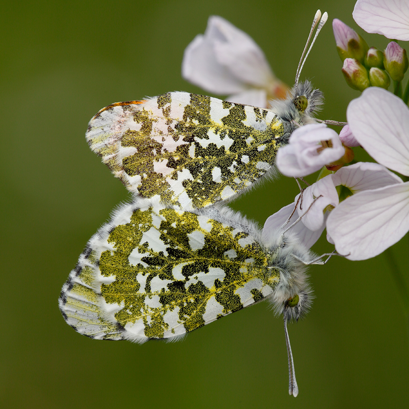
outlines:
[[288, 145], [277, 152], [276, 165], [286, 176], [306, 176], [337, 161], [344, 153], [333, 129], [325, 124], [308, 124], [292, 132]]

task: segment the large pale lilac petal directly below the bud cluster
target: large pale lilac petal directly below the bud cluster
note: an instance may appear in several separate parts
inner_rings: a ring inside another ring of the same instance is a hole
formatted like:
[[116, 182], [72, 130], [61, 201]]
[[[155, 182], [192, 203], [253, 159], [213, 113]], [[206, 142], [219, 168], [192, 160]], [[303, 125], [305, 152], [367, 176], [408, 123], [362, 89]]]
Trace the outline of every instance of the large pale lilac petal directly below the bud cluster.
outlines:
[[378, 87], [351, 101], [347, 119], [359, 144], [380, 164], [409, 175], [409, 109]]

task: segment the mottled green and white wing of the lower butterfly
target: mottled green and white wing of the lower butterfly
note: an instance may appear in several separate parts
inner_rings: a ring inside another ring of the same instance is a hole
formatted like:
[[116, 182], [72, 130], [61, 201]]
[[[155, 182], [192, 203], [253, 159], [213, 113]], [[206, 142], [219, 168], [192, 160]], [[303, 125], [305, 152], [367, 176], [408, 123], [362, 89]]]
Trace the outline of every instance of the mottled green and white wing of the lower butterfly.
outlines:
[[94, 338], [142, 343], [183, 336], [263, 299], [279, 271], [240, 220], [148, 200], [123, 206], [64, 285], [65, 320]]

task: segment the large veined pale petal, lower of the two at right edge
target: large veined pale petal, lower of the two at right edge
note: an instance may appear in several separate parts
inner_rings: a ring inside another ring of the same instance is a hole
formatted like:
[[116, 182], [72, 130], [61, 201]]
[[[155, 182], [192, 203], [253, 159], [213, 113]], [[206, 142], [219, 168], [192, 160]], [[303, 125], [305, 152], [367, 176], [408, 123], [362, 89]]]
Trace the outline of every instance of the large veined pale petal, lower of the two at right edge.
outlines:
[[409, 183], [366, 190], [330, 213], [327, 231], [339, 254], [366, 260], [382, 253], [409, 230]]

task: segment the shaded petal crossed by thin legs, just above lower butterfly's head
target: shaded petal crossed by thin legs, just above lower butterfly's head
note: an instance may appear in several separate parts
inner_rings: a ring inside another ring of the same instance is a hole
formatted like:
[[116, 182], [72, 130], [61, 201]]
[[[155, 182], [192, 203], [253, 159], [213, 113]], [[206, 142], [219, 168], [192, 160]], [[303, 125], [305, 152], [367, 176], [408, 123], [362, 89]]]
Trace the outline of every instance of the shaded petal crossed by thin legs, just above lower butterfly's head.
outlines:
[[[288, 217], [294, 210], [295, 203], [290, 203], [290, 205], [285, 206], [280, 209], [274, 215], [267, 218], [264, 223], [262, 238], [263, 242], [268, 245], [268, 243], [274, 242], [276, 240], [277, 234], [283, 231], [283, 225], [287, 221]], [[297, 212], [294, 212], [289, 223], [284, 228], [284, 230], [289, 227], [298, 219]], [[296, 234], [298, 239], [306, 248], [311, 248], [313, 244], [320, 238], [325, 226], [321, 230], [311, 231], [309, 230], [302, 221], [298, 222], [296, 225], [292, 226], [289, 232]], [[280, 233], [281, 234], [281, 233]]]

